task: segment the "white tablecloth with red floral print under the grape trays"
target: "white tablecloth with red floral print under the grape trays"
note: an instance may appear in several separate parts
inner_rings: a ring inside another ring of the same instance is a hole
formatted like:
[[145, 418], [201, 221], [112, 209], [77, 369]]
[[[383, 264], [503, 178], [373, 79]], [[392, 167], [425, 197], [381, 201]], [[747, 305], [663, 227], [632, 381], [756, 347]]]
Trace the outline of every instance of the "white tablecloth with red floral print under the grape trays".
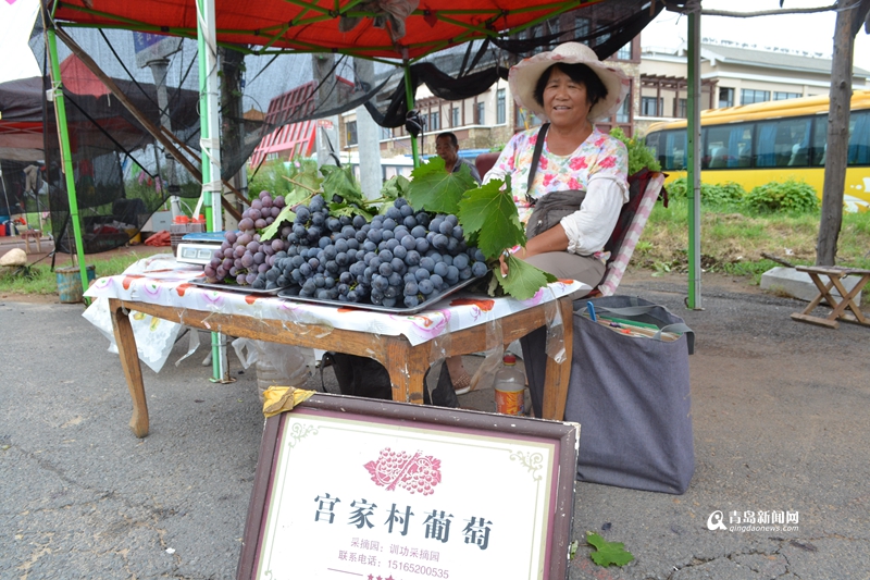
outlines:
[[555, 301], [567, 294], [587, 287], [575, 281], [555, 282], [540, 288], [529, 300], [489, 298], [460, 292], [415, 314], [393, 314], [360, 308], [319, 306], [262, 294], [199, 287], [192, 282], [204, 281], [201, 267], [182, 264], [166, 256], [151, 259], [150, 263], [138, 270], [139, 273], [100, 277], [88, 288], [85, 296], [318, 324], [370, 334], [403, 335], [414, 346], [450, 332], [504, 318], [532, 306]]

